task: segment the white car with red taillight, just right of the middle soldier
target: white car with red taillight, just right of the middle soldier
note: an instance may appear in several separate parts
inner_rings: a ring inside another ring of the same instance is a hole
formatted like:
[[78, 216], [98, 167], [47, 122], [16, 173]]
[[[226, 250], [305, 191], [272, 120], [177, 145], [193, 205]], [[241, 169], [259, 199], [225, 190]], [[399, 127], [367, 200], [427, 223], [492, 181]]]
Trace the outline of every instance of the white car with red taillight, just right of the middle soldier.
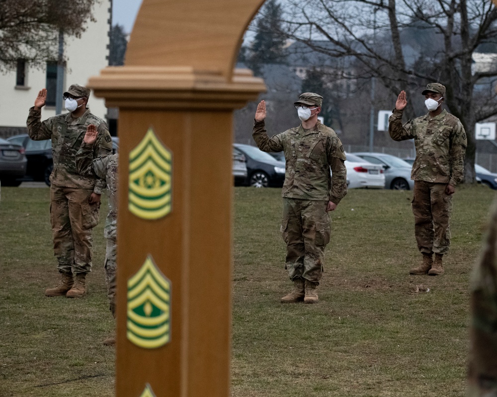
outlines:
[[349, 189], [385, 188], [385, 174], [381, 165], [370, 163], [351, 153], [347, 153], [346, 156], [345, 167]]

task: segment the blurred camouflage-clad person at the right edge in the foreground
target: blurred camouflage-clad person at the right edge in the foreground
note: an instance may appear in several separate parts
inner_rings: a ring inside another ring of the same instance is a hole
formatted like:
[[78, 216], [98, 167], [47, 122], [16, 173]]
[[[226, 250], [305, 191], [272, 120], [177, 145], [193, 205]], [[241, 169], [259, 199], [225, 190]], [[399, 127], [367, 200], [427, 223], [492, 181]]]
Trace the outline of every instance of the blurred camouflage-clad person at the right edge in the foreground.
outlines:
[[468, 397], [497, 396], [497, 201], [471, 278]]

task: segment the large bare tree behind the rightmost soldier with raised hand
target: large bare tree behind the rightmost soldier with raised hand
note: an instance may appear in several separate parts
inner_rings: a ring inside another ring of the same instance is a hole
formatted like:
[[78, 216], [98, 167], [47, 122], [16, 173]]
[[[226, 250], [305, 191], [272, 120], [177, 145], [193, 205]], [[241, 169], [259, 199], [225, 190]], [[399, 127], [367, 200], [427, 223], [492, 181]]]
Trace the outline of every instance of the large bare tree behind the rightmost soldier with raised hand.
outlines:
[[330, 58], [353, 59], [355, 71], [340, 78], [375, 77], [392, 100], [406, 90], [409, 117], [421, 87], [446, 85], [445, 104], [468, 135], [465, 180], [475, 180], [475, 123], [497, 114], [497, 63], [472, 67], [475, 52], [497, 43], [491, 1], [289, 0], [284, 10], [281, 33]]

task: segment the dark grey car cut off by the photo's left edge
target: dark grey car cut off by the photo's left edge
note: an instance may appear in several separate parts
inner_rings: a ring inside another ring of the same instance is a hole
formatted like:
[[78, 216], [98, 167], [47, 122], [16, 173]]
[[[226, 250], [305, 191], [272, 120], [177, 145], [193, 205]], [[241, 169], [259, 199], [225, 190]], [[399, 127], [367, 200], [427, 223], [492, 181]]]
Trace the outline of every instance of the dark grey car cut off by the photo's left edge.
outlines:
[[26, 174], [27, 159], [24, 147], [0, 138], [0, 184], [19, 186]]

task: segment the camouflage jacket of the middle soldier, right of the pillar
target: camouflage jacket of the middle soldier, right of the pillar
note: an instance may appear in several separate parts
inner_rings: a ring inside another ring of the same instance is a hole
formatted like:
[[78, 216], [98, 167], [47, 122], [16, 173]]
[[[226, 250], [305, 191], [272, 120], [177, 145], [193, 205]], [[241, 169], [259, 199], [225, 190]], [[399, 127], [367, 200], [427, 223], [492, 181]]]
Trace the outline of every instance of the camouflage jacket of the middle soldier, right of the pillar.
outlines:
[[300, 125], [269, 138], [264, 121], [254, 121], [252, 137], [262, 151], [284, 151], [283, 197], [338, 204], [347, 194], [345, 152], [331, 128], [318, 121], [311, 130]]

